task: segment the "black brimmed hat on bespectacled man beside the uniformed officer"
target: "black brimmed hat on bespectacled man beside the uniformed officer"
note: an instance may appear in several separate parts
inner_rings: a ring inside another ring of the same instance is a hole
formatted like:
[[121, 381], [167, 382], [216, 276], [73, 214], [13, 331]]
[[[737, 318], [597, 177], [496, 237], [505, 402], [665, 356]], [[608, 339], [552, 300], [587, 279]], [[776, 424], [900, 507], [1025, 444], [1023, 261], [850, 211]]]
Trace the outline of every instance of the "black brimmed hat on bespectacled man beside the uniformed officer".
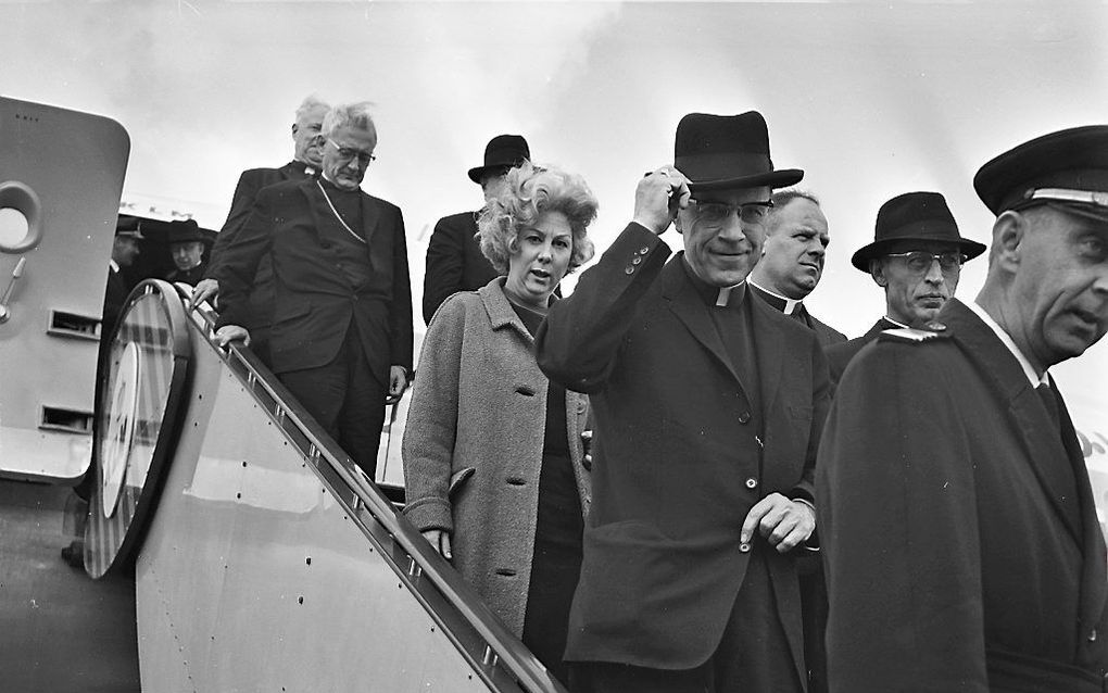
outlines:
[[966, 259], [985, 252], [981, 243], [962, 237], [946, 198], [940, 193], [904, 193], [881, 205], [873, 243], [860, 247], [850, 262], [869, 273], [871, 259], [881, 257], [892, 246], [905, 241], [951, 243], [958, 246]]

